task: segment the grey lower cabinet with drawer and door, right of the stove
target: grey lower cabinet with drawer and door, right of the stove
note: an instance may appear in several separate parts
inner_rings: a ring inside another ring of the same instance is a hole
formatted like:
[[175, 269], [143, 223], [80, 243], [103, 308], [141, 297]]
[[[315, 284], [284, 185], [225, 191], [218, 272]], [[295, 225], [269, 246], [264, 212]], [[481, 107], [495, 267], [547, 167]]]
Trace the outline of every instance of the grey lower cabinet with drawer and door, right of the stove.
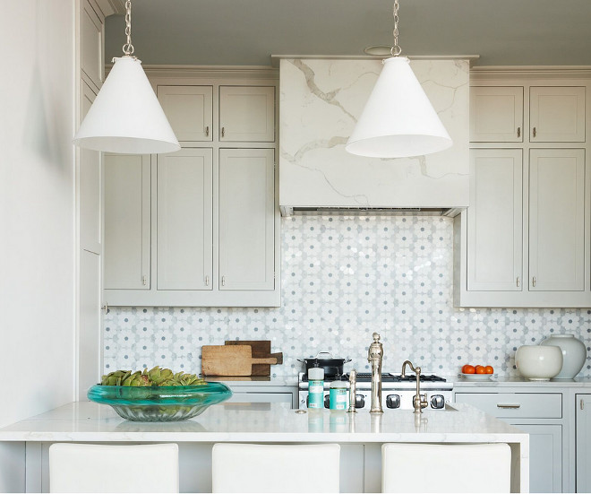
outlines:
[[468, 403], [529, 434], [529, 489], [562, 491], [563, 428], [561, 393], [456, 393]]

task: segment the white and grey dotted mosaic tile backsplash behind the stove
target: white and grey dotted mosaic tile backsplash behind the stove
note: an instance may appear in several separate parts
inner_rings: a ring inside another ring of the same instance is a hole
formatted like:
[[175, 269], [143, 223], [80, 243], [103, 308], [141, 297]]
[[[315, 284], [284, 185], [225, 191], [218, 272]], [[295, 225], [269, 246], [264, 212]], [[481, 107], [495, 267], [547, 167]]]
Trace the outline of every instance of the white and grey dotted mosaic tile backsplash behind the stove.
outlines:
[[452, 222], [447, 218], [295, 216], [282, 219], [281, 308], [110, 308], [104, 367], [201, 370], [201, 345], [271, 340], [283, 351], [277, 376], [330, 351], [368, 369], [381, 334], [385, 371], [410, 359], [426, 373], [454, 375], [465, 363], [518, 375], [518, 346], [552, 333], [587, 345], [579, 376], [591, 377], [591, 310], [454, 308]]

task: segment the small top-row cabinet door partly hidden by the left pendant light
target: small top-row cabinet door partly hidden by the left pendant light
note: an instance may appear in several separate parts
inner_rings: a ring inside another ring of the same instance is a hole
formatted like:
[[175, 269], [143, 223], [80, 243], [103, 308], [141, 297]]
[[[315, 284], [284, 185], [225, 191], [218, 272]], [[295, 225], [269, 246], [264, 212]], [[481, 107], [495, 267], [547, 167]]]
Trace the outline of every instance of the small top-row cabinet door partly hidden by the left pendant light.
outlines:
[[181, 142], [212, 141], [211, 86], [158, 86], [158, 100]]

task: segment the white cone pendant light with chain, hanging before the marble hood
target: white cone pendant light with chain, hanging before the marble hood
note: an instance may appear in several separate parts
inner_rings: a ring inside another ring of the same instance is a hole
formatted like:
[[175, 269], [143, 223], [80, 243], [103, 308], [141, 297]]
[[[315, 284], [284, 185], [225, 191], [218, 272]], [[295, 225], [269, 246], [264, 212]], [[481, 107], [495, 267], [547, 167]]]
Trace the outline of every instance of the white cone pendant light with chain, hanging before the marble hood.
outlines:
[[399, 56], [398, 0], [394, 4], [394, 47], [347, 141], [351, 154], [403, 158], [439, 152], [451, 146], [447, 133], [408, 58]]

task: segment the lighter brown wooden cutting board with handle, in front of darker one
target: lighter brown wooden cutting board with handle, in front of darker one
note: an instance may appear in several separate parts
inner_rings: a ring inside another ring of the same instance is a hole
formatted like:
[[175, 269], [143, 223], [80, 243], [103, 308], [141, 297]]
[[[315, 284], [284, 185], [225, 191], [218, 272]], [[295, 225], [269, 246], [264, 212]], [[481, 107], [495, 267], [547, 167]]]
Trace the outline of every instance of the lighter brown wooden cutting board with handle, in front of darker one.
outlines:
[[254, 359], [249, 345], [203, 345], [203, 376], [252, 376], [253, 364], [276, 364], [276, 358]]

